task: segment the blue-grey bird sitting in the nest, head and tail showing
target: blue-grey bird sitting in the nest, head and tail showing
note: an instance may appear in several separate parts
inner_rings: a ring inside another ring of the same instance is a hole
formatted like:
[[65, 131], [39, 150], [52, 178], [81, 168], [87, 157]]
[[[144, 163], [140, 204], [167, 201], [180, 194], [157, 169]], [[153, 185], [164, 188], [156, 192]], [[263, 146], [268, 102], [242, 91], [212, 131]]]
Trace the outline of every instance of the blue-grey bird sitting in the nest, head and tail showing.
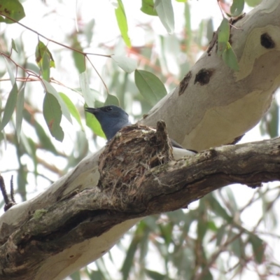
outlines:
[[[92, 113], [95, 118], [97, 118], [108, 141], [110, 141], [120, 129], [131, 125], [127, 112], [116, 105], [107, 105], [99, 108], [85, 107], [85, 111]], [[187, 151], [183, 153], [180, 151], [180, 158], [184, 155], [195, 155], [197, 153], [197, 151], [194, 150], [186, 150], [173, 139], [170, 139], [170, 141], [175, 152], [175, 149], [178, 148]]]

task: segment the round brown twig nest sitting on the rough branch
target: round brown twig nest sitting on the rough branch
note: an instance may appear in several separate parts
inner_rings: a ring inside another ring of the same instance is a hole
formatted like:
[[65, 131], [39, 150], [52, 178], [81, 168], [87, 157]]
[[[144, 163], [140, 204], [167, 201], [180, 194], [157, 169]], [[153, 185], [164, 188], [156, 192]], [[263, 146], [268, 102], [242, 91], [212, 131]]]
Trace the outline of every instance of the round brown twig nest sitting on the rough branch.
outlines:
[[165, 122], [157, 129], [145, 125], [124, 127], [99, 157], [99, 187], [114, 197], [131, 194], [151, 168], [173, 160]]

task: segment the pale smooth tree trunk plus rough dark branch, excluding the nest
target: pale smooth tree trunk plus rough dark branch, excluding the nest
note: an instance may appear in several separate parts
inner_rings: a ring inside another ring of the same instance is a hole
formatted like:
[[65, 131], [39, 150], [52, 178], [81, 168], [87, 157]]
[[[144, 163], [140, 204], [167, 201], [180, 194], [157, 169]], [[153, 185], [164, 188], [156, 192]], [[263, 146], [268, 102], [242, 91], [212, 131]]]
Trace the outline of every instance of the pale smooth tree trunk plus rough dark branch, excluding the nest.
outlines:
[[[231, 143], [248, 131], [267, 111], [280, 83], [279, 15], [280, 1], [267, 0], [239, 20], [231, 43], [240, 71], [225, 66], [214, 42], [143, 123], [163, 119], [170, 137], [199, 151]], [[100, 153], [1, 216], [1, 279], [64, 279], [106, 253], [146, 215], [178, 209], [229, 183], [255, 186], [279, 179], [278, 140], [225, 146], [155, 167], [144, 176], [133, 203], [119, 204], [118, 197], [97, 188]], [[146, 203], [136, 204], [140, 198]]]

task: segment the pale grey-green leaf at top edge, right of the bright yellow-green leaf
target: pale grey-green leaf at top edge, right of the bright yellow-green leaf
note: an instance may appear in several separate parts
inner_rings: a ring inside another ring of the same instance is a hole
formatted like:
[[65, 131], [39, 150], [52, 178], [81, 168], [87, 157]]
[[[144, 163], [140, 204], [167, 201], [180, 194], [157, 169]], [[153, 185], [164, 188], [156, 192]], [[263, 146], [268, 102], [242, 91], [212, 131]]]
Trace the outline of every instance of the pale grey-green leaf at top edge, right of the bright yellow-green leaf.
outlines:
[[174, 13], [171, 0], [155, 0], [155, 10], [169, 34], [174, 32]]

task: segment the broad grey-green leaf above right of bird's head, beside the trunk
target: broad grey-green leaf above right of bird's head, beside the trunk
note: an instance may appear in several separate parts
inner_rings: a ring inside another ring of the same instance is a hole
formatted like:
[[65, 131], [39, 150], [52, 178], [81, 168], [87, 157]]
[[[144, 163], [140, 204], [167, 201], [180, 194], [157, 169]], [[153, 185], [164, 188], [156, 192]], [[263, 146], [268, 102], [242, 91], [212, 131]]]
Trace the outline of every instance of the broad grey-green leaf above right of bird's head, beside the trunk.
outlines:
[[167, 94], [165, 85], [151, 72], [136, 70], [134, 79], [139, 92], [151, 105], [155, 105]]

